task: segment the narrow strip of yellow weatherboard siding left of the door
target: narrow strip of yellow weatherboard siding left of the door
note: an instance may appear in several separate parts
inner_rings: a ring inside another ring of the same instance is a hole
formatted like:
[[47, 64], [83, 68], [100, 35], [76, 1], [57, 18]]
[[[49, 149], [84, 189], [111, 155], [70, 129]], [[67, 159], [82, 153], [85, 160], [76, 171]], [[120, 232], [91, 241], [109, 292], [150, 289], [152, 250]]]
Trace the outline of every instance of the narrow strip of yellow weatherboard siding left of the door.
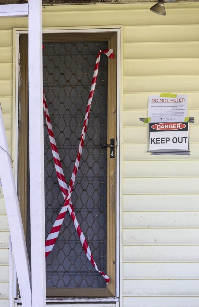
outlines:
[[[3, 19], [1, 19], [2, 22]], [[2, 27], [1, 27], [2, 29]], [[0, 31], [0, 102], [12, 154], [13, 31]], [[0, 306], [9, 306], [9, 227], [2, 187], [0, 186]]]

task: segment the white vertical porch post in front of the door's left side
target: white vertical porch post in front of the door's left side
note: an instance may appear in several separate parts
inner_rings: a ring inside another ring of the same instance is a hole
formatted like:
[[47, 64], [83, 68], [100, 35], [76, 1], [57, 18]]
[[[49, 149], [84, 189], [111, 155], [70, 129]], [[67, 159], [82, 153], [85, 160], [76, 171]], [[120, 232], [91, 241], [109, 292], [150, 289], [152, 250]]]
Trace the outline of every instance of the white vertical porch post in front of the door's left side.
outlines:
[[46, 306], [42, 0], [28, 1], [32, 307]]

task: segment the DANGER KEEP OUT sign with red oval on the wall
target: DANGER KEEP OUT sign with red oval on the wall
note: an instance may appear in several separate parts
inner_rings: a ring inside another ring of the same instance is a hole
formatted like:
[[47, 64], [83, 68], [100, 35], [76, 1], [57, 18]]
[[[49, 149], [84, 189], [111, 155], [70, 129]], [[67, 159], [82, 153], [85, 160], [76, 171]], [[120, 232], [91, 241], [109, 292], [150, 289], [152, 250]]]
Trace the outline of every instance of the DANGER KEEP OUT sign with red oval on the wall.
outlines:
[[149, 151], [189, 150], [188, 122], [149, 123]]

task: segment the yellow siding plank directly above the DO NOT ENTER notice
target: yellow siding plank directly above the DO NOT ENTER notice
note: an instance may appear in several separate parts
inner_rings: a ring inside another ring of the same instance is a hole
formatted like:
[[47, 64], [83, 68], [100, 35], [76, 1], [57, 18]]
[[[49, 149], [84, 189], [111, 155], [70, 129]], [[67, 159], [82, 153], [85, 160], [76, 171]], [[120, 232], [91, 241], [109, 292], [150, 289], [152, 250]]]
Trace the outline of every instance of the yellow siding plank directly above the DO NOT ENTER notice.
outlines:
[[180, 92], [198, 89], [199, 76], [141, 76], [123, 77], [123, 91], [128, 92]]

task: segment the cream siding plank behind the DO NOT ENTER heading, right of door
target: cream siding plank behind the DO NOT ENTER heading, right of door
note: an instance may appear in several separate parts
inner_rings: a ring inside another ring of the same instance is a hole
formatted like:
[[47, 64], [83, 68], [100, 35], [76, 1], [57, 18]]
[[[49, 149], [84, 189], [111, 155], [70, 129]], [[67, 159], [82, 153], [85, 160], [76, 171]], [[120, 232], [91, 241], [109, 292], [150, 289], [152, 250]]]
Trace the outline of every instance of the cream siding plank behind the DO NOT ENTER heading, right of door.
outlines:
[[[160, 92], [161, 91], [162, 89], [160, 90]], [[165, 92], [165, 89], [163, 89], [163, 91]], [[160, 95], [160, 92], [124, 93], [123, 94], [123, 110], [148, 110], [148, 95]], [[182, 92], [177, 92], [176, 90], [174, 90], [173, 93], [183, 94]], [[199, 92], [188, 93], [188, 108], [190, 110], [199, 108], [198, 99], [199, 99]], [[190, 115], [190, 116], [194, 116], [194, 115]]]

